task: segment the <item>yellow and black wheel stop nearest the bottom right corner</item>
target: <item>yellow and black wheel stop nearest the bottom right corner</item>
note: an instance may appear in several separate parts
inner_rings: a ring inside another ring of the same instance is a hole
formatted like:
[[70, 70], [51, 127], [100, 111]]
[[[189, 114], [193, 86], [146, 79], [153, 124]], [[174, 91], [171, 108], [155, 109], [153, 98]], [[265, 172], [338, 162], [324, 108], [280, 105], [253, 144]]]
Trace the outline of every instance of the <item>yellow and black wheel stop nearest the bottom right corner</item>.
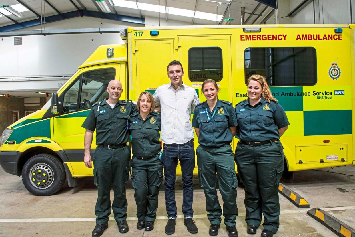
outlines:
[[320, 208], [313, 208], [307, 214], [333, 231], [337, 236], [355, 237], [355, 229]]

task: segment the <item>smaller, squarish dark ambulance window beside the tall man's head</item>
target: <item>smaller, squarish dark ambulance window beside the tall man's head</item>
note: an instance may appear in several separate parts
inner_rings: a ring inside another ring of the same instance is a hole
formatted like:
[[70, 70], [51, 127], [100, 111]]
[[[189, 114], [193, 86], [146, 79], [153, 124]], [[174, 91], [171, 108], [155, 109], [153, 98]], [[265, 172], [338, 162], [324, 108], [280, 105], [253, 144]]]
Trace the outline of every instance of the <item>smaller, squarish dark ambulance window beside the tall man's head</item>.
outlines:
[[220, 81], [223, 78], [222, 49], [219, 47], [195, 47], [187, 52], [189, 79], [202, 82], [206, 79]]

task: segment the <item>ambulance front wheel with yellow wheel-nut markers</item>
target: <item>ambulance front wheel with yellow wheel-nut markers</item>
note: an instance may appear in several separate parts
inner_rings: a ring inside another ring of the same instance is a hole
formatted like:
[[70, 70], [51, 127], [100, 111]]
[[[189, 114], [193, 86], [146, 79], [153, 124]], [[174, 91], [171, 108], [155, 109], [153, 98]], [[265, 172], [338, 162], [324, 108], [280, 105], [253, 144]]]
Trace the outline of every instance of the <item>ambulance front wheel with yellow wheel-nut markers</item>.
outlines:
[[50, 154], [31, 157], [24, 164], [21, 175], [24, 187], [37, 196], [55, 194], [65, 181], [63, 163]]

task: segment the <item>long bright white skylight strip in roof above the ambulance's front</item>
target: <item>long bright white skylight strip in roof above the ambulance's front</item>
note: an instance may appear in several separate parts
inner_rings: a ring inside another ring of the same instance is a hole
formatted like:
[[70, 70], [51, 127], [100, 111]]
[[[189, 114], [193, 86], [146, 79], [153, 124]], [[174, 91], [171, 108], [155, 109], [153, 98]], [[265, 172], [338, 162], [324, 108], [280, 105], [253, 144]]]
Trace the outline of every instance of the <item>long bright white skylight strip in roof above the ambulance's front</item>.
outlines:
[[[143, 2], [137, 2], [137, 4], [136, 4], [136, 2], [127, 1], [127, 0], [113, 0], [113, 2], [115, 4], [115, 6], [118, 6], [118, 7], [138, 9], [137, 8], [137, 5], [138, 5], [140, 10], [165, 13], [165, 6], [159, 6], [159, 5], [148, 4], [148, 3], [143, 3]], [[171, 14], [171, 15], [185, 16], [185, 17], [191, 17], [191, 18], [193, 17], [193, 14], [195, 13], [195, 18], [209, 20], [209, 21], [220, 21], [223, 17], [222, 15], [216, 15], [216, 14], [201, 12], [201, 11], [195, 12], [193, 10], [186, 10], [186, 9], [181, 9], [181, 8], [176, 8], [176, 7], [166, 7], [166, 13]]]

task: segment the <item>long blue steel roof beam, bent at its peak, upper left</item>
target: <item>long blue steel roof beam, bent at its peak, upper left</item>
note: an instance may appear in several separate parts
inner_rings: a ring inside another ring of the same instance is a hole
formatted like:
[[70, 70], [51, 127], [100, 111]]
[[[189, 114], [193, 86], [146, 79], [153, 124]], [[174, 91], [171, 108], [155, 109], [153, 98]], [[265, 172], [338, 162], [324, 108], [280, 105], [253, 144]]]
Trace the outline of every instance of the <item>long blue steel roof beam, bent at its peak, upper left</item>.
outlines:
[[[71, 12], [66, 12], [54, 16], [47, 16], [45, 18], [45, 21], [42, 23], [51, 23], [55, 21], [61, 21], [73, 17], [78, 17], [78, 16], [88, 16], [88, 17], [99, 17], [99, 12], [97, 11], [89, 11], [89, 10], [79, 10], [79, 11], [71, 11]], [[102, 12], [102, 18], [103, 19], [108, 19], [108, 20], [114, 20], [114, 21], [124, 21], [124, 22], [129, 22], [129, 23], [137, 23], [137, 24], [142, 24], [145, 25], [145, 20], [144, 18], [138, 18], [138, 17], [132, 17], [132, 16], [124, 16], [124, 15], [116, 15], [112, 13], [105, 13]], [[35, 20], [30, 20], [30, 21], [24, 21], [20, 22], [17, 24], [12, 24], [8, 26], [3, 26], [0, 27], [0, 32], [10, 32], [10, 31], [16, 31], [19, 29], [27, 28], [27, 27], [32, 27], [32, 26], [39, 26], [41, 25], [40, 19], [35, 19]]]

